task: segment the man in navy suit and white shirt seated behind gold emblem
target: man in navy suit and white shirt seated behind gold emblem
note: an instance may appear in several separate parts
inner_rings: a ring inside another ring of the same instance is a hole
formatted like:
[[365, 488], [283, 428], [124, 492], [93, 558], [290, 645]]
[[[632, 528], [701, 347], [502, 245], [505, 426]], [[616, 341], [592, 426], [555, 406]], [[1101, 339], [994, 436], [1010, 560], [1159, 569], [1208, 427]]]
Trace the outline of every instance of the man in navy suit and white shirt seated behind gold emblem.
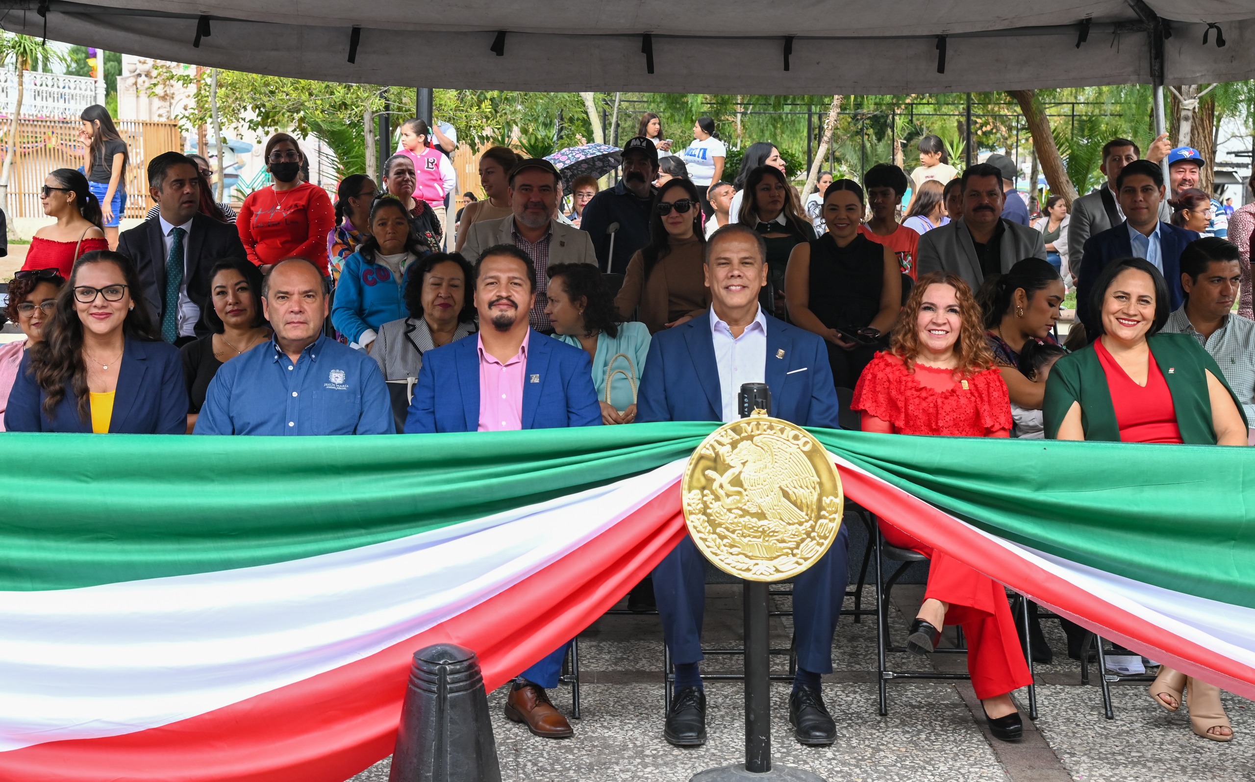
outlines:
[[[767, 285], [767, 246], [753, 230], [733, 223], [707, 242], [705, 284], [710, 310], [654, 335], [640, 382], [636, 419], [737, 419], [743, 383], [767, 383], [772, 415], [807, 427], [840, 428], [837, 393], [823, 340], [767, 315], [758, 292]], [[832, 634], [846, 592], [847, 531], [793, 581], [798, 672], [789, 722], [803, 744], [831, 744], [836, 726], [823, 705], [820, 675], [832, 672]], [[675, 698], [663, 732], [678, 747], [705, 742], [702, 619], [705, 603], [702, 554], [685, 537], [654, 570], [663, 634], [675, 661]]]

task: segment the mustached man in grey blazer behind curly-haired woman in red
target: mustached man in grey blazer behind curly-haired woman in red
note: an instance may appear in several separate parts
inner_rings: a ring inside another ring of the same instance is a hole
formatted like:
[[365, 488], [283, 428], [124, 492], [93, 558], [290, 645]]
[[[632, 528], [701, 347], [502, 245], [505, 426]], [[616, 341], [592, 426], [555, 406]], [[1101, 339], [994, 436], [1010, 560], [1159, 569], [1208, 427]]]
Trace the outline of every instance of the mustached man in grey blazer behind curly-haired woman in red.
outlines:
[[1004, 274], [1027, 257], [1045, 260], [1045, 242], [1037, 228], [1003, 217], [1003, 173], [988, 163], [963, 172], [963, 217], [920, 237], [920, 275], [955, 274], [971, 290], [986, 275]]

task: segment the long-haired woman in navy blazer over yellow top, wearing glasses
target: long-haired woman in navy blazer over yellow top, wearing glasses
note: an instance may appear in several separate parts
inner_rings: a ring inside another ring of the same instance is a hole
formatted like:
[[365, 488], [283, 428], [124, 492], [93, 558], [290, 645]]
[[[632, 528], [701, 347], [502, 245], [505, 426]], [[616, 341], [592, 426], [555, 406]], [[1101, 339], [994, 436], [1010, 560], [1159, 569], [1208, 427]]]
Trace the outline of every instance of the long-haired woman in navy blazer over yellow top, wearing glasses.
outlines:
[[178, 349], [153, 336], [131, 259], [102, 250], [74, 264], [45, 339], [21, 362], [10, 432], [183, 434]]

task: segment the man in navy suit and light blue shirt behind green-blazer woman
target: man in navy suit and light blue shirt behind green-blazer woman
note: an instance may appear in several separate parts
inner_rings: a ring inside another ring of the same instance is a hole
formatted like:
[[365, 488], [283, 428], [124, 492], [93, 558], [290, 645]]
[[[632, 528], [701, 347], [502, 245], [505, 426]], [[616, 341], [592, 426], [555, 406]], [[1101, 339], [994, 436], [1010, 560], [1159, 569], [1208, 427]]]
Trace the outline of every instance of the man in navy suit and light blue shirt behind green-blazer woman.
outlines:
[[1158, 163], [1133, 161], [1116, 178], [1116, 198], [1124, 222], [1086, 240], [1077, 280], [1077, 314], [1087, 334], [1097, 334], [1102, 316], [1091, 306], [1089, 296], [1103, 266], [1123, 257], [1141, 257], [1163, 272], [1168, 284], [1170, 310], [1185, 303], [1181, 289], [1181, 252], [1199, 238], [1195, 231], [1160, 221], [1163, 201], [1163, 169]]

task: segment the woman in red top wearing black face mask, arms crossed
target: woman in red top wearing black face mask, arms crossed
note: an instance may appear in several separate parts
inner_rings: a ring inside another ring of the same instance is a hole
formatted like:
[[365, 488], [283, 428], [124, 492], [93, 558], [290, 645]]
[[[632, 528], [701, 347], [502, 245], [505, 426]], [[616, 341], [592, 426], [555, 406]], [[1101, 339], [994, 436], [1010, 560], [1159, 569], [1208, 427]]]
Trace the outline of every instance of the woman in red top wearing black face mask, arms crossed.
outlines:
[[266, 167], [275, 183], [251, 192], [240, 207], [240, 241], [262, 274], [295, 255], [312, 261], [324, 277], [329, 275], [326, 235], [335, 227], [335, 210], [325, 190], [301, 181], [302, 162], [295, 138], [271, 136]]

